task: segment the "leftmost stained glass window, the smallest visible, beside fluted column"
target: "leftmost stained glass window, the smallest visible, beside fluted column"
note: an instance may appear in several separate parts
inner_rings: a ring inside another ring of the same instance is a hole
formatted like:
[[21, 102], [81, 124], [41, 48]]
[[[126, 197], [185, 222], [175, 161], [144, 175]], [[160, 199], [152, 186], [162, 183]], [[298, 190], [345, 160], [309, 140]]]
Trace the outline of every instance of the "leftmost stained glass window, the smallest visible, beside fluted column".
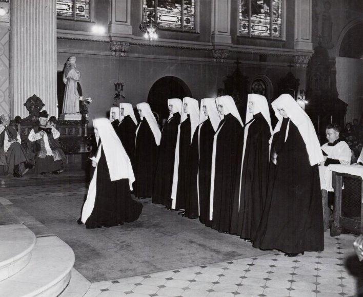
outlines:
[[57, 0], [57, 17], [90, 19], [90, 0]]

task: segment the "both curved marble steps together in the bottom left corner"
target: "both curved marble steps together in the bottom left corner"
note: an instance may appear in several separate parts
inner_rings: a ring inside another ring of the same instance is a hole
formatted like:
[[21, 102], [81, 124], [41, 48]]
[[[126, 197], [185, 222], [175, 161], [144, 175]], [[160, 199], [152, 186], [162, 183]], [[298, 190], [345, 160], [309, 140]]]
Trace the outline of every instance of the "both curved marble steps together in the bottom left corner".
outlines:
[[[19, 225], [2, 225], [1, 229], [0, 271], [3, 277], [8, 275], [8, 278], [0, 281], [0, 297], [59, 296], [70, 282], [74, 264], [73, 250], [56, 236], [38, 237], [34, 244], [34, 237]], [[5, 229], [8, 229], [7, 232]], [[16, 239], [11, 240], [13, 237], [23, 237], [24, 242], [20, 244]], [[17, 249], [16, 244], [21, 247]], [[30, 257], [27, 256], [29, 254]], [[29, 258], [29, 263], [24, 266]], [[18, 271], [12, 274], [16, 270]]]

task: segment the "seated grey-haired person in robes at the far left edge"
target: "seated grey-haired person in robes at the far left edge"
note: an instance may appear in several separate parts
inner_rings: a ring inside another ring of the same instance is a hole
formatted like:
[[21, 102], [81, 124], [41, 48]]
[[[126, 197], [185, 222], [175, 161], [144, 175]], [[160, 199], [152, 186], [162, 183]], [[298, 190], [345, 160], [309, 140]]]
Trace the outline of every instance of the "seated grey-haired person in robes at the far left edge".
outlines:
[[9, 115], [1, 115], [0, 124], [0, 166], [5, 166], [8, 175], [23, 177], [31, 165], [21, 145], [21, 139], [14, 128], [9, 126]]

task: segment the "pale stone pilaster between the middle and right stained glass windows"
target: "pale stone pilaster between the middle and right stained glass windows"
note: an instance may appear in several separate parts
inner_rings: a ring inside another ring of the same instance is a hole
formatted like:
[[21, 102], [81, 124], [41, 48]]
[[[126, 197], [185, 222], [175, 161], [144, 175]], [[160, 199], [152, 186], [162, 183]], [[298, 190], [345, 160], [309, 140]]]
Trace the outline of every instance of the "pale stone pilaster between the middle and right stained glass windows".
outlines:
[[231, 0], [212, 0], [213, 44], [231, 44]]

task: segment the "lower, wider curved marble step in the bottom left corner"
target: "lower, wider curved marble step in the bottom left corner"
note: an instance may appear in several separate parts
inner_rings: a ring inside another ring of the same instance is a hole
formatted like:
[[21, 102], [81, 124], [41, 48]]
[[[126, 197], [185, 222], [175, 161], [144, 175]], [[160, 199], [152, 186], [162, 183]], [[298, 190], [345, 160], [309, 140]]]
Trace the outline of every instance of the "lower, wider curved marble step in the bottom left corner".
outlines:
[[31, 260], [0, 282], [0, 297], [56, 297], [68, 286], [74, 252], [56, 236], [38, 237]]

